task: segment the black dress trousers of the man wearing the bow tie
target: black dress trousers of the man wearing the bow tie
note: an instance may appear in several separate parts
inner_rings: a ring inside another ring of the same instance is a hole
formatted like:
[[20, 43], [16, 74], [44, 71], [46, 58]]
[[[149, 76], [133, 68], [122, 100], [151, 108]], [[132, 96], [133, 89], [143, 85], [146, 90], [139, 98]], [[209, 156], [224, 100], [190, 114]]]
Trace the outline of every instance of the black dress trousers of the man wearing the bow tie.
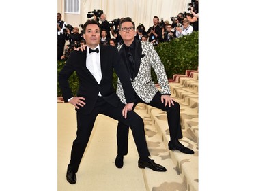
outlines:
[[[104, 114], [118, 120], [119, 122], [122, 122], [122, 124], [125, 124], [126, 126], [130, 126], [140, 158], [147, 158], [150, 156], [145, 139], [144, 123], [142, 118], [134, 111], [128, 111], [127, 118], [125, 119], [124, 116], [122, 116], [122, 109], [124, 106], [124, 103], [120, 101], [118, 107], [113, 107], [104, 101], [102, 97], [98, 97], [96, 106], [91, 114], [85, 115], [79, 111], [76, 111], [76, 139], [72, 145], [68, 169], [72, 169], [75, 173], [78, 171], [79, 164], [87, 147], [87, 143], [98, 114]], [[104, 126], [101, 128], [104, 128]]]

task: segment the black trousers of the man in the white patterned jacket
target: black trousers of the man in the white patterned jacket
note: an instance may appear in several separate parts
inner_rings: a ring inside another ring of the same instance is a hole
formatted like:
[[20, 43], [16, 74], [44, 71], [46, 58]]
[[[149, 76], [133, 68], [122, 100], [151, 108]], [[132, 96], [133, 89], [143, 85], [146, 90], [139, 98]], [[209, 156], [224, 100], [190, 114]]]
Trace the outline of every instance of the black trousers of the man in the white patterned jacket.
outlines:
[[[136, 94], [137, 102], [134, 104], [133, 109], [138, 103], [145, 103]], [[158, 91], [150, 103], [145, 103], [152, 107], [161, 109], [167, 112], [167, 122], [169, 126], [169, 133], [171, 140], [182, 138], [182, 128], [180, 125], [180, 104], [173, 101], [174, 105], [165, 107], [165, 102], [161, 102], [161, 93]], [[119, 121], [117, 125], [117, 154], [126, 155], [128, 153], [128, 135], [129, 127], [123, 122]]]

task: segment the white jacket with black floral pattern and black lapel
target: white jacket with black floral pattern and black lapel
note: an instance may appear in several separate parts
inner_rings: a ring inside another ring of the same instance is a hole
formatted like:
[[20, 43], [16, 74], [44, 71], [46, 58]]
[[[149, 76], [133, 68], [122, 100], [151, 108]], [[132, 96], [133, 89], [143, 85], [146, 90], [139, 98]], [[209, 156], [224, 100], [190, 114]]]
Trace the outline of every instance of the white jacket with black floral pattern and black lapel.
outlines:
[[[160, 57], [158, 56], [154, 46], [147, 41], [135, 41], [135, 58], [134, 58], [134, 75], [132, 79], [132, 87], [137, 95], [145, 101], [145, 103], [150, 103], [150, 101], [155, 96], [158, 89], [155, 83], [152, 81], [151, 77], [151, 67], [157, 75], [158, 84], [160, 85], [161, 94], [171, 94], [169, 82], [167, 75], [165, 73], [165, 67], [162, 64]], [[126, 66], [126, 52], [123, 45], [117, 47], [119, 53], [121, 54]], [[117, 95], [123, 103], [126, 103], [124, 97], [124, 90], [120, 80], [117, 80]]]

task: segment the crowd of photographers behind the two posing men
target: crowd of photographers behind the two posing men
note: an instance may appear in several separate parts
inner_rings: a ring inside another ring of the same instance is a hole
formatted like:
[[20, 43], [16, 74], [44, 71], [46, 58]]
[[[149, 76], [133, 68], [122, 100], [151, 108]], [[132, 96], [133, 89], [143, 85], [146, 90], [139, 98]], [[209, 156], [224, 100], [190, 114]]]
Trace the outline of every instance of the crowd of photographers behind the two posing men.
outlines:
[[[113, 23], [106, 20], [106, 14], [102, 13], [100, 16], [94, 14], [93, 18], [100, 24], [100, 44], [115, 45], [124, 44], [124, 41], [119, 34], [119, 22], [123, 18], [115, 19]], [[83, 39], [83, 31], [79, 33], [78, 27], [67, 27], [69, 24], [61, 20], [61, 14], [57, 14], [57, 29], [58, 29], [58, 60], [66, 60], [71, 51], [76, 50], [81, 44], [85, 44]], [[159, 19], [154, 16], [153, 25], [146, 30], [145, 26], [139, 23], [136, 27], [135, 38], [139, 41], [149, 41], [154, 46], [161, 42], [169, 42], [175, 38], [190, 35], [193, 31], [199, 29], [199, 13], [198, 1], [189, 4], [188, 12], [180, 12], [176, 17], [169, 20]], [[83, 27], [83, 26], [81, 26]], [[112, 35], [112, 37], [111, 37]], [[69, 44], [65, 47], [66, 41]]]

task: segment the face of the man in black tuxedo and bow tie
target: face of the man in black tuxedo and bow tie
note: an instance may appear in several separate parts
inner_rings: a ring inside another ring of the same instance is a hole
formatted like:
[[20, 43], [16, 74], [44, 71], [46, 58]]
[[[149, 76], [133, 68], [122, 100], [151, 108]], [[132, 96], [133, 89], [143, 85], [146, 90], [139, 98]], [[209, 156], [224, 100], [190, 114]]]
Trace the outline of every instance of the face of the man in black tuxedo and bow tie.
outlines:
[[88, 24], [85, 28], [85, 34], [83, 38], [86, 41], [87, 46], [90, 48], [96, 48], [100, 43], [100, 28], [97, 24]]

